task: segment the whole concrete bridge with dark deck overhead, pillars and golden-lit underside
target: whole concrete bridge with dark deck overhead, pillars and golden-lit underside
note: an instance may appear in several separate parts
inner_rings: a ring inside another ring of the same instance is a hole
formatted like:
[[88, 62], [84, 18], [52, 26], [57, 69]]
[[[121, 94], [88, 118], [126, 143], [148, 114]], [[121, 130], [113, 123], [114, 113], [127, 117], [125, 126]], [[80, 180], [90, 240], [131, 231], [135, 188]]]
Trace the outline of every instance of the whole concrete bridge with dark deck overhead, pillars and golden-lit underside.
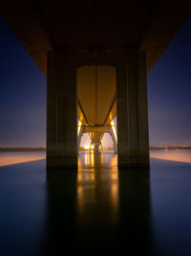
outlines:
[[189, 1], [3, 2], [1, 15], [47, 75], [47, 166], [76, 168], [81, 134], [97, 151], [110, 132], [119, 168], [148, 167], [146, 74]]

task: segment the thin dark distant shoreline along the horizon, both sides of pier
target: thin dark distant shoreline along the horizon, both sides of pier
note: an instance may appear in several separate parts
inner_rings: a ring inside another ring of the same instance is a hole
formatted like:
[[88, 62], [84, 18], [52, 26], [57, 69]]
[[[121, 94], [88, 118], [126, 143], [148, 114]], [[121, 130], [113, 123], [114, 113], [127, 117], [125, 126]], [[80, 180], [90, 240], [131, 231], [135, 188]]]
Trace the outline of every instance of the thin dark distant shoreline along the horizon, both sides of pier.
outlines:
[[[149, 147], [150, 150], [191, 150], [191, 146], [166, 146], [166, 147]], [[0, 152], [11, 151], [46, 151], [46, 148], [0, 148]]]

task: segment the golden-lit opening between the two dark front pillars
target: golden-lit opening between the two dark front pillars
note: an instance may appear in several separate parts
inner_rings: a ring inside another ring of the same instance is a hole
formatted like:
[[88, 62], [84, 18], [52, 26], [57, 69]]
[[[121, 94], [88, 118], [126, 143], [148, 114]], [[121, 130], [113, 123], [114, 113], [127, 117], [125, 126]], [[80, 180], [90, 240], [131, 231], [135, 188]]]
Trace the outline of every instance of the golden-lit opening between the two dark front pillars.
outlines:
[[77, 68], [78, 152], [117, 152], [116, 91], [116, 67]]

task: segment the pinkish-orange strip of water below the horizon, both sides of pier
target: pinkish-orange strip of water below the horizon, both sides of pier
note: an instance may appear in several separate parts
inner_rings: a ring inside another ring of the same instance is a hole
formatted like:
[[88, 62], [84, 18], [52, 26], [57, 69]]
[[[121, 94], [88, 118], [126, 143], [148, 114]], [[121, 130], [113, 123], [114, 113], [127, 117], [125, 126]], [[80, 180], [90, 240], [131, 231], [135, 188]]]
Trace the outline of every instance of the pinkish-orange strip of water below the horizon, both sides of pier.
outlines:
[[[191, 150], [150, 151], [153, 158], [191, 163]], [[0, 152], [0, 166], [24, 163], [46, 158], [45, 151]]]

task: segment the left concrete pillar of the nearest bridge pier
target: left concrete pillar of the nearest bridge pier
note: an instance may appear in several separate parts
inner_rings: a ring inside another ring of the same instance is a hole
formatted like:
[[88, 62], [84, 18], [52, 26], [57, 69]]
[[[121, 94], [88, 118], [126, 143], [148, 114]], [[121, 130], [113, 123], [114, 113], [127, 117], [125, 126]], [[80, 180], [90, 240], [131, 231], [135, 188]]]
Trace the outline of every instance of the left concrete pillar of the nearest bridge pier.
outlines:
[[48, 54], [47, 167], [77, 168], [77, 101], [74, 59]]

